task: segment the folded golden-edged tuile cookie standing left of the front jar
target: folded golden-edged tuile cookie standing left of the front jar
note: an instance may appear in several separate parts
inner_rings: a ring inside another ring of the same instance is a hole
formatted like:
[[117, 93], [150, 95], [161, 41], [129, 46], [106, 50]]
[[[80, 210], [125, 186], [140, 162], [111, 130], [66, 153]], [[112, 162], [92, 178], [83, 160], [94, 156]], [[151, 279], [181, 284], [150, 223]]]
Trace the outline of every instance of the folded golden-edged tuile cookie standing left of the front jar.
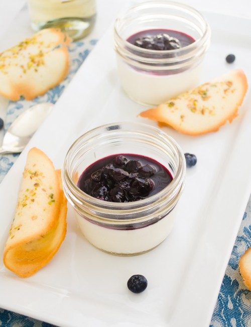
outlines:
[[4, 264], [21, 277], [33, 275], [58, 251], [66, 235], [67, 200], [61, 171], [38, 148], [27, 156]]

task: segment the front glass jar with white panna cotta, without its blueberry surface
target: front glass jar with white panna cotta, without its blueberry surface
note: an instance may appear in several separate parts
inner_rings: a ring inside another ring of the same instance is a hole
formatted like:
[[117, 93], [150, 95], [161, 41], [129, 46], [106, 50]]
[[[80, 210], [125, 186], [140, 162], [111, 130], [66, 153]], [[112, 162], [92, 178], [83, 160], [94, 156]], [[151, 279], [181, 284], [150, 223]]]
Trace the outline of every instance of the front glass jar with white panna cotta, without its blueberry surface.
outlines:
[[[168, 169], [172, 182], [149, 198], [128, 203], [99, 200], [77, 187], [87, 167], [121, 153], [153, 158]], [[62, 169], [63, 189], [91, 244], [108, 253], [132, 256], [155, 248], [171, 232], [185, 171], [180, 146], [165, 132], [141, 123], [115, 123], [92, 129], [72, 144]]]

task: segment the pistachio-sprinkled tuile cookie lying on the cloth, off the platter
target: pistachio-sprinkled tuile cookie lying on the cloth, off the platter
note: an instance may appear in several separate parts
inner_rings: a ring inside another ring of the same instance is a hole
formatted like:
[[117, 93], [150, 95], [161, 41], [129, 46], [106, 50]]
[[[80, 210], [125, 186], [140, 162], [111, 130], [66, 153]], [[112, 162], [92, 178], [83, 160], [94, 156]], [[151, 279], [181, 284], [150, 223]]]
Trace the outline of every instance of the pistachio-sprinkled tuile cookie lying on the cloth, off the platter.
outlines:
[[69, 71], [69, 39], [57, 29], [44, 29], [0, 54], [0, 94], [19, 100], [43, 95]]

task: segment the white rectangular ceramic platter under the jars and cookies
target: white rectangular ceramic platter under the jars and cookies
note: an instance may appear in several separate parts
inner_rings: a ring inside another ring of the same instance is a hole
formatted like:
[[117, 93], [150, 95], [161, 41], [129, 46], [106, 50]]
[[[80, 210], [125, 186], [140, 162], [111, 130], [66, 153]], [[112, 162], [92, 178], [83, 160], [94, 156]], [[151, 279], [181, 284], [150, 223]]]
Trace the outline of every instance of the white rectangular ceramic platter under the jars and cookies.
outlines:
[[[201, 82], [234, 68], [251, 80], [250, 20], [206, 14], [212, 44]], [[104, 35], [0, 185], [0, 251], [12, 223], [28, 150], [37, 146], [62, 167], [71, 143], [98, 125], [141, 121], [145, 107], [120, 89], [112, 49]], [[225, 56], [234, 53], [229, 65]], [[178, 220], [168, 239], [137, 257], [116, 257], [91, 246], [81, 235], [71, 208], [68, 232], [53, 260], [21, 279], [0, 263], [0, 307], [60, 326], [208, 327], [251, 187], [250, 91], [239, 116], [218, 132], [191, 137], [166, 128], [197, 165], [187, 170]], [[148, 288], [127, 289], [133, 274]]]

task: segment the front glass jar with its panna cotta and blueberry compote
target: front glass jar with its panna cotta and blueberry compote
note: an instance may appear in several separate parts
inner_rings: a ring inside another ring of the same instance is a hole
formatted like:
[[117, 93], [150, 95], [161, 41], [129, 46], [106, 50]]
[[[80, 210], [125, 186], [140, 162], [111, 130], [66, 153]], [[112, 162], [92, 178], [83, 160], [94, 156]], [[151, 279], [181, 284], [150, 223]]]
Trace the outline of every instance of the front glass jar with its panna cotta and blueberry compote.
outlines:
[[80, 136], [62, 180], [84, 237], [122, 256], [147, 252], [171, 232], [185, 185], [177, 142], [151, 125], [122, 122]]

